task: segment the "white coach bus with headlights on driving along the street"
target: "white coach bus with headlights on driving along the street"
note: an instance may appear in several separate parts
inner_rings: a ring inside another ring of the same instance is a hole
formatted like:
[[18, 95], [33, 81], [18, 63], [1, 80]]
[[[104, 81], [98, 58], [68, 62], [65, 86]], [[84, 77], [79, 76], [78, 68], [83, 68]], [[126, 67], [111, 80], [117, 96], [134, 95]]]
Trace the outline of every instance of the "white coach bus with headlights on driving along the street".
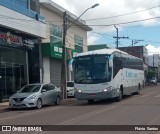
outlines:
[[78, 100], [121, 101], [144, 87], [143, 60], [118, 49], [80, 53], [74, 58], [74, 83]]

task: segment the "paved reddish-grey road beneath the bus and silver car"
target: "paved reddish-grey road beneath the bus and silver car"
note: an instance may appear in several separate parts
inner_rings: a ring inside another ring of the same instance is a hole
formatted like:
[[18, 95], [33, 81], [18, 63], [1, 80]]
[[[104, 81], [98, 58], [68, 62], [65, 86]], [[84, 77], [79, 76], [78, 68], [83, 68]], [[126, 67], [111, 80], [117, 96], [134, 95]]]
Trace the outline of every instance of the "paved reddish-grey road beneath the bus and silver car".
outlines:
[[[1, 125], [160, 125], [160, 86], [145, 88], [141, 95], [127, 96], [121, 102], [113, 100], [73, 101], [41, 110], [4, 109]], [[96, 129], [96, 128], [95, 128]], [[49, 133], [49, 132], [42, 132]], [[160, 131], [126, 132], [57, 132], [53, 134], [160, 134]]]

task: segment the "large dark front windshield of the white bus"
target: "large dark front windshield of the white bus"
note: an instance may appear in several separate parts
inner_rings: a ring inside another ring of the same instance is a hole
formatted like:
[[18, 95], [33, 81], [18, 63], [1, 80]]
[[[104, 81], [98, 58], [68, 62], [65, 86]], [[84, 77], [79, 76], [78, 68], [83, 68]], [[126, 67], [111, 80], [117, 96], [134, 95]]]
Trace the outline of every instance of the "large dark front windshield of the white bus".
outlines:
[[89, 55], [75, 59], [75, 83], [97, 84], [111, 81], [110, 55]]

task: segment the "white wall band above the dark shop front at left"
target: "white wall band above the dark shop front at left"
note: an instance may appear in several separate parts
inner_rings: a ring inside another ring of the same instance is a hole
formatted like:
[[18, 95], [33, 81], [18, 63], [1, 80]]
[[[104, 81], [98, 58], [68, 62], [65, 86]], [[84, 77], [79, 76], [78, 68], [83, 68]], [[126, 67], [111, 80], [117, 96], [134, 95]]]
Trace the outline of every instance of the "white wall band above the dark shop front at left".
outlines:
[[46, 25], [21, 13], [0, 6], [0, 25], [33, 35], [46, 38]]

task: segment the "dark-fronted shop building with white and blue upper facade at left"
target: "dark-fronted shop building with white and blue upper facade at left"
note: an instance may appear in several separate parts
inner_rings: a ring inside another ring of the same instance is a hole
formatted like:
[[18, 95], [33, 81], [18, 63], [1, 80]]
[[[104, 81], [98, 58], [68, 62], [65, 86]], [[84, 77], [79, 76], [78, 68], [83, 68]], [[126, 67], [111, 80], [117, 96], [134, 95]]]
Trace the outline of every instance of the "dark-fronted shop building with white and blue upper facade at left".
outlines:
[[38, 0], [0, 1], [0, 102], [40, 82], [38, 40], [46, 38]]

